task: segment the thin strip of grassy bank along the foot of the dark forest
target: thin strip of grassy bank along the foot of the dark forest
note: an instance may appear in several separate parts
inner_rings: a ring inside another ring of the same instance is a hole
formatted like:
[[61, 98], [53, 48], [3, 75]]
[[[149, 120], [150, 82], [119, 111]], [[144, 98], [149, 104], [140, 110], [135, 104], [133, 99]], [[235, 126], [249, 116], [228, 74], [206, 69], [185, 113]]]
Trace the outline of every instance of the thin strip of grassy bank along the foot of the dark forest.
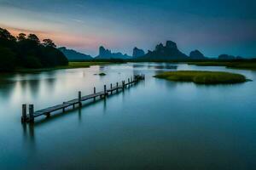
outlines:
[[51, 68], [42, 68], [42, 69], [27, 69], [27, 68], [18, 68], [15, 72], [40, 72], [40, 71], [54, 71], [58, 69], [77, 69], [77, 68], [88, 68], [92, 65], [110, 65], [111, 62], [69, 62], [68, 65], [56, 66]]

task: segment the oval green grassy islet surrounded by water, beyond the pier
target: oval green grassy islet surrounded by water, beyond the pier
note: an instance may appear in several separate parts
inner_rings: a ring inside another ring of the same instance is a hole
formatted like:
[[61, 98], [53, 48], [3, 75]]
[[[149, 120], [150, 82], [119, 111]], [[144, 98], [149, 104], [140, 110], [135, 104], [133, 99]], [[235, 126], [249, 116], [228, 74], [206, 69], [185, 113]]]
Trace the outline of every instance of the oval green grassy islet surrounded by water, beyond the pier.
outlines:
[[240, 74], [221, 71], [168, 71], [154, 77], [176, 82], [195, 82], [197, 84], [230, 84], [247, 82]]

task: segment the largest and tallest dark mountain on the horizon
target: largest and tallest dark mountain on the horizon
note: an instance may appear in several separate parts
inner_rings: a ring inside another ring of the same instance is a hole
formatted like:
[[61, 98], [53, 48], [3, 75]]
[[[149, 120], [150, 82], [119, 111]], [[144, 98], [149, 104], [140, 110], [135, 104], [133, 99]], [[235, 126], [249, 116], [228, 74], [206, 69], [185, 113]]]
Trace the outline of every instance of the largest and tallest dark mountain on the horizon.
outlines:
[[163, 59], [163, 60], [172, 60], [172, 59], [188, 59], [189, 57], [186, 54], [183, 54], [178, 50], [177, 44], [172, 41], [167, 41], [166, 46], [162, 43], [158, 44], [154, 51], [148, 51], [148, 54], [145, 54], [139, 59]]

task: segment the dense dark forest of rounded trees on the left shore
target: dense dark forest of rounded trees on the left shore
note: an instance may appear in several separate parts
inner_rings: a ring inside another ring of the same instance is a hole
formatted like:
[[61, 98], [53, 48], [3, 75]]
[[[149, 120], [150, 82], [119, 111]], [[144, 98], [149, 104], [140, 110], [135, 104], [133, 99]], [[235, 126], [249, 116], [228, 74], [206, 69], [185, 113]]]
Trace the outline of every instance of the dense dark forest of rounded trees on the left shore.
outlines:
[[50, 39], [40, 42], [35, 34], [20, 33], [15, 37], [0, 28], [0, 71], [16, 68], [46, 68], [68, 65], [67, 58]]

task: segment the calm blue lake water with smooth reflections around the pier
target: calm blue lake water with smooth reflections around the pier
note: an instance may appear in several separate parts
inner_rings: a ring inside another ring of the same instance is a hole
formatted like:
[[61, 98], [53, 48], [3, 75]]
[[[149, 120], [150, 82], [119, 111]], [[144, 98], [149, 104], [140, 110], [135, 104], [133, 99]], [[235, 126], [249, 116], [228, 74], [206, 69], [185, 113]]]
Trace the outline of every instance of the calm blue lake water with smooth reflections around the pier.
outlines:
[[[176, 65], [176, 64], [173, 64]], [[256, 71], [177, 65], [177, 70], [230, 71], [253, 82], [204, 86], [156, 79], [165, 63], [129, 63], [0, 77], [0, 169], [255, 169]], [[105, 72], [99, 77], [96, 73]], [[106, 100], [20, 123], [35, 110], [90, 94], [93, 87], [146, 75]]]

